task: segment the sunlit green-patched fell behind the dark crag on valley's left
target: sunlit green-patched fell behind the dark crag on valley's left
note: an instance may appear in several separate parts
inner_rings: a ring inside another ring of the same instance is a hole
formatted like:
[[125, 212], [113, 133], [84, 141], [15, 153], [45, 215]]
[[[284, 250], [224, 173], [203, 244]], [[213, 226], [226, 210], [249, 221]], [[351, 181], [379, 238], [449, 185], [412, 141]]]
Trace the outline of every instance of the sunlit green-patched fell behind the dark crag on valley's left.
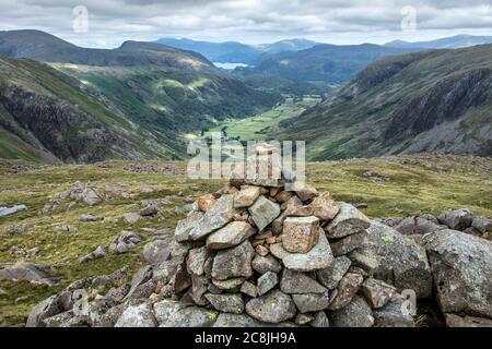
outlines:
[[[140, 139], [142, 148], [156, 149], [145, 156], [180, 158], [185, 155], [185, 133], [208, 129], [213, 120], [254, 115], [281, 98], [248, 87], [199, 53], [159, 44], [127, 41], [114, 50], [87, 49], [43, 32], [16, 31], [0, 32], [0, 52], [48, 62], [77, 79], [130, 129], [145, 130]], [[24, 85], [31, 84], [43, 81], [30, 83], [26, 74]], [[11, 87], [3, 93], [10, 92]], [[43, 100], [39, 107], [44, 107]], [[90, 117], [95, 117], [89, 111]], [[117, 130], [121, 137], [131, 133], [126, 128]], [[94, 159], [84, 152], [73, 157], [54, 154], [63, 160]], [[128, 152], [129, 157], [141, 155]], [[115, 154], [108, 152], [101, 153], [97, 159], [113, 157]]]

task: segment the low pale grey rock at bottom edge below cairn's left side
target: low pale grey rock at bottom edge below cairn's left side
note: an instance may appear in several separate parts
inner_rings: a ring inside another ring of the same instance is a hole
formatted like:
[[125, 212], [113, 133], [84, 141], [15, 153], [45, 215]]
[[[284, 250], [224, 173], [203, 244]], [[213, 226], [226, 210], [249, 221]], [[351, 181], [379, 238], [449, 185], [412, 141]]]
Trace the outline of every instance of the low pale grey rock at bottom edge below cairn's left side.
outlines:
[[174, 313], [160, 327], [212, 327], [216, 317], [218, 313], [215, 311], [198, 306], [187, 306]]

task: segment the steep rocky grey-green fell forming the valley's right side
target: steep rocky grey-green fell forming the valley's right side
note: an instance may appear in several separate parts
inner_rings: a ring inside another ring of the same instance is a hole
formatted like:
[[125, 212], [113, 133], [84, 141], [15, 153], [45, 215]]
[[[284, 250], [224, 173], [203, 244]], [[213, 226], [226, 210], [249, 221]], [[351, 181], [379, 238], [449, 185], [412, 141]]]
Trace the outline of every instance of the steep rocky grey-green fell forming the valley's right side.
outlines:
[[283, 123], [314, 160], [442, 152], [492, 156], [492, 45], [384, 58]]

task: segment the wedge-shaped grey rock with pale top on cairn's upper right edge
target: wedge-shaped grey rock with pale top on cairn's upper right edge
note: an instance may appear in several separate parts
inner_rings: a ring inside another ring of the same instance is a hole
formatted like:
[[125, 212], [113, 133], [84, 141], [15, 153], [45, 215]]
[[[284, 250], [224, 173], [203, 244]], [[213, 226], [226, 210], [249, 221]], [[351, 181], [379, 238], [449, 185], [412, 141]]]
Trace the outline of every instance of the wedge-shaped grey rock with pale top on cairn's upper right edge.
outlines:
[[364, 231], [371, 220], [359, 209], [347, 203], [340, 203], [340, 212], [325, 228], [328, 238], [338, 239]]

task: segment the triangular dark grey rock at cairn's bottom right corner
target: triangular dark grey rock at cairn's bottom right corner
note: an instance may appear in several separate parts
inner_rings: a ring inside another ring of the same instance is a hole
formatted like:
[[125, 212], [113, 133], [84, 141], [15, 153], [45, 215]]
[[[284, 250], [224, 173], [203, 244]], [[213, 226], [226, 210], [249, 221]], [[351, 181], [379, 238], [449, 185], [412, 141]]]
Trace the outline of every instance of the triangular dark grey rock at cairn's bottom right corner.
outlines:
[[374, 316], [362, 297], [355, 296], [349, 305], [329, 314], [332, 327], [372, 327]]

